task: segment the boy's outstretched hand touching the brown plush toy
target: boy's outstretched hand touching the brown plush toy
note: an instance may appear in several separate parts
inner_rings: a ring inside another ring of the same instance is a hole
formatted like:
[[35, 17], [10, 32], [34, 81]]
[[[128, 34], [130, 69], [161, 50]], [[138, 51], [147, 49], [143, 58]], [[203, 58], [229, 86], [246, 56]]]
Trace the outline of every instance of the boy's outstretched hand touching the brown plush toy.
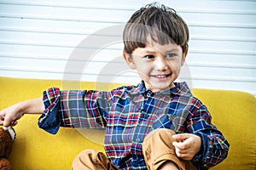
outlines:
[[0, 125], [4, 127], [15, 126], [17, 120], [23, 115], [20, 103], [12, 105], [0, 111]]

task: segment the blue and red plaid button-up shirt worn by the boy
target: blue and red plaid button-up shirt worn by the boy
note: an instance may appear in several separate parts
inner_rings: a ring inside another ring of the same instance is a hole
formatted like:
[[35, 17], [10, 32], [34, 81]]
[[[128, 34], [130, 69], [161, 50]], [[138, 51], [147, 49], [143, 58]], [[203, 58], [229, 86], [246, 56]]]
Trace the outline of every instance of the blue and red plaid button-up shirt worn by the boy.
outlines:
[[200, 136], [203, 150], [192, 160], [198, 169], [212, 167], [228, 154], [228, 142], [185, 82], [158, 93], [146, 89], [144, 82], [109, 92], [49, 88], [44, 105], [38, 125], [49, 133], [57, 133], [60, 126], [105, 128], [106, 154], [120, 169], [147, 169], [142, 142], [156, 128]]

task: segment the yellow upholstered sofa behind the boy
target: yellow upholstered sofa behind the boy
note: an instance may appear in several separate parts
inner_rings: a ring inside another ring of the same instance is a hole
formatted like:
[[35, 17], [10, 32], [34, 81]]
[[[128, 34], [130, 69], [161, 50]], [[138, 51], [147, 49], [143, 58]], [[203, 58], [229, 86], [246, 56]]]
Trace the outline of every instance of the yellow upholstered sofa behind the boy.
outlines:
[[[118, 86], [119, 84], [113, 84]], [[0, 77], [0, 110], [25, 99], [42, 96], [61, 81]], [[82, 88], [95, 88], [83, 82]], [[212, 169], [256, 169], [256, 99], [252, 94], [228, 90], [193, 89], [212, 113], [212, 122], [230, 142], [226, 160]], [[70, 169], [73, 158], [85, 149], [102, 150], [102, 132], [61, 127], [49, 134], [37, 126], [38, 115], [25, 115], [15, 126], [15, 145], [9, 160], [14, 170]]]

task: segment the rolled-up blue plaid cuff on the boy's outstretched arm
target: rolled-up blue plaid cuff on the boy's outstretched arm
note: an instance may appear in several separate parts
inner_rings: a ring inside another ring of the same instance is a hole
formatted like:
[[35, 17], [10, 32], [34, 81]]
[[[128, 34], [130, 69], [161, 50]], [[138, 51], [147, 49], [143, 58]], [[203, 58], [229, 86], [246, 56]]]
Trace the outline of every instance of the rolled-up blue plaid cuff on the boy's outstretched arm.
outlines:
[[43, 94], [45, 110], [38, 119], [38, 127], [43, 128], [48, 133], [57, 133], [61, 126], [61, 119], [58, 114], [60, 96], [61, 91], [59, 88], [49, 88]]

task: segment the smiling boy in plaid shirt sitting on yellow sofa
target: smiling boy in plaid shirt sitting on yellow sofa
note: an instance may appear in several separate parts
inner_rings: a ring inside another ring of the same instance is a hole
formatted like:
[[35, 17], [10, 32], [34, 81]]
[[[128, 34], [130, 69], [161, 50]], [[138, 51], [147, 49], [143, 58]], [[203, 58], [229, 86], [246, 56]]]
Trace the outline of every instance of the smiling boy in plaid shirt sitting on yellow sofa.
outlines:
[[42, 113], [39, 127], [105, 128], [107, 156], [84, 150], [73, 169], [206, 169], [223, 161], [229, 144], [205, 105], [185, 82], [175, 83], [188, 53], [189, 29], [172, 8], [150, 4], [124, 30], [124, 59], [142, 78], [110, 92], [49, 88], [41, 98], [0, 112], [15, 126], [25, 113]]

